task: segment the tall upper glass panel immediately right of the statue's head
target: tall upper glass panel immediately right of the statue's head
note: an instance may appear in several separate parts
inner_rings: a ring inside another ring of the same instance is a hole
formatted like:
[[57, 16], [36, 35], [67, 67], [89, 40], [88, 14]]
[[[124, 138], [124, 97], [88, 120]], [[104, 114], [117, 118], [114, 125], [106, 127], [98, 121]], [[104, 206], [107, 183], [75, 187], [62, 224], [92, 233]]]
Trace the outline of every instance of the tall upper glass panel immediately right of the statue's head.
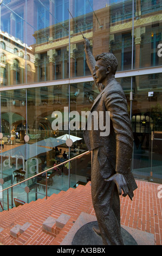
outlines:
[[132, 1], [111, 2], [109, 51], [118, 59], [117, 71], [129, 70], [132, 61], [134, 63], [134, 59], [132, 60]]

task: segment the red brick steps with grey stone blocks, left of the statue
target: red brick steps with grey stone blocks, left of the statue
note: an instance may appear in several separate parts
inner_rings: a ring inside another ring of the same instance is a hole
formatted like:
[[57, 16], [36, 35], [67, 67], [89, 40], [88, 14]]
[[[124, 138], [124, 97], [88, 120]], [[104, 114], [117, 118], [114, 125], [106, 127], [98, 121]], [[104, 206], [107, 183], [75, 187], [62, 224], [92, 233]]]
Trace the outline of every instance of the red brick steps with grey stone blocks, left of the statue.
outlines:
[[60, 245], [81, 212], [95, 215], [90, 182], [0, 212], [2, 245]]

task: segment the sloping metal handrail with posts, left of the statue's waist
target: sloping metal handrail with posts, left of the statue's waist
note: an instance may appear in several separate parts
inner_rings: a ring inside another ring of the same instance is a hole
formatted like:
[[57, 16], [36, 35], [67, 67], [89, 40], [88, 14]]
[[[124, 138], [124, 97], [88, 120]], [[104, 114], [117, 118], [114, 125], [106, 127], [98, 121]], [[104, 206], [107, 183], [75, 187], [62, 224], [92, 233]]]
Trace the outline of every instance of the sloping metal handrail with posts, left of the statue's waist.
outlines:
[[[62, 163], [59, 163], [59, 164], [57, 164], [56, 166], [50, 167], [50, 168], [47, 169], [47, 170], [43, 170], [41, 173], [37, 173], [37, 174], [35, 174], [34, 176], [31, 176], [31, 177], [28, 178], [28, 179], [22, 180], [22, 181], [20, 181], [20, 182], [14, 184], [14, 185], [11, 185], [10, 187], [6, 187], [6, 188], [4, 188], [3, 190], [1, 190], [0, 193], [3, 192], [3, 191], [5, 191], [5, 190], [9, 190], [10, 188], [15, 187], [15, 186], [17, 186], [17, 185], [20, 185], [21, 183], [23, 183], [23, 182], [25, 182], [25, 181], [28, 181], [28, 180], [30, 180], [30, 179], [33, 179], [33, 178], [35, 178], [36, 176], [41, 175], [42, 173], [46, 173], [46, 199], [47, 199], [47, 172], [49, 172], [49, 170], [52, 170], [52, 169], [54, 169], [54, 168], [57, 168], [57, 167], [61, 166], [62, 164], [65, 164], [65, 163], [68, 163], [68, 162], [70, 162], [70, 161], [73, 161], [73, 160], [75, 160], [75, 159], [77, 159], [77, 158], [80, 158], [80, 157], [82, 157], [83, 155], [87, 155], [87, 154], [89, 154], [89, 153], [90, 153], [90, 151], [88, 150], [88, 151], [86, 151], [86, 152], [84, 152], [84, 153], [81, 153], [80, 155], [74, 156], [74, 157], [72, 157], [72, 159], [68, 159], [68, 160], [66, 160], [66, 161], [63, 161]], [[3, 184], [2, 184], [2, 185], [3, 185]], [[8, 210], [9, 210], [9, 198], [8, 198]]]

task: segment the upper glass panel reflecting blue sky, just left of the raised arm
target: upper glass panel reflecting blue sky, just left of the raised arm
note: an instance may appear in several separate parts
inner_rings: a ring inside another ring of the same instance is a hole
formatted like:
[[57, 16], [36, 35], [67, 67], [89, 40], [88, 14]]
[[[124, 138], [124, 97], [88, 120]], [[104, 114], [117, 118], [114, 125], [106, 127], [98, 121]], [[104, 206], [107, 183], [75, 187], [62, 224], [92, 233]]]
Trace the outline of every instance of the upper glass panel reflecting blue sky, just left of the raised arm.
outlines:
[[[69, 2], [28, 2], [30, 4], [27, 5], [27, 51], [31, 59], [28, 63], [30, 67], [27, 64], [28, 83], [68, 78]], [[32, 19], [31, 10], [34, 10]]]

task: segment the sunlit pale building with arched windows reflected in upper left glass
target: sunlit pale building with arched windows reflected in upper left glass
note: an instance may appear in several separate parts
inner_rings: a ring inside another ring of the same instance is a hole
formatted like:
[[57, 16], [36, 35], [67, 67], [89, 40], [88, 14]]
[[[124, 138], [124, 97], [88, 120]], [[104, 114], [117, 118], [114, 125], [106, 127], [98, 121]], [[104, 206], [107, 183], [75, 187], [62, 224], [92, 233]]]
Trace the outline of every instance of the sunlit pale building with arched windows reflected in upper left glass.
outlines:
[[32, 47], [7, 32], [0, 31], [0, 35], [1, 87], [33, 81], [35, 65]]

